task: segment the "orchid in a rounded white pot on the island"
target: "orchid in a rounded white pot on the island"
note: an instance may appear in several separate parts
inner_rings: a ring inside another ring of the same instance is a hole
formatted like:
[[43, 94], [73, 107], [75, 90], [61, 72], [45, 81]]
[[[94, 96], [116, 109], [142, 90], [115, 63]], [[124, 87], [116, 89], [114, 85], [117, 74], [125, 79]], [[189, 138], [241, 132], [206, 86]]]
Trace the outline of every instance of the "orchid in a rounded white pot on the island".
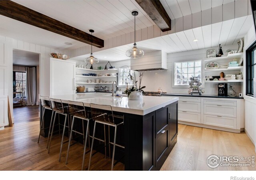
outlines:
[[129, 74], [128, 76], [132, 80], [132, 87], [125, 90], [125, 93], [128, 94], [128, 99], [129, 100], [142, 100], [142, 98], [143, 98], [142, 94], [144, 94], [144, 91], [142, 89], [146, 88], [146, 86], [141, 87], [143, 72], [142, 72], [142, 74], [140, 73], [139, 87], [137, 86], [138, 81], [136, 81], [135, 74], [134, 74], [134, 78], [131, 74]]

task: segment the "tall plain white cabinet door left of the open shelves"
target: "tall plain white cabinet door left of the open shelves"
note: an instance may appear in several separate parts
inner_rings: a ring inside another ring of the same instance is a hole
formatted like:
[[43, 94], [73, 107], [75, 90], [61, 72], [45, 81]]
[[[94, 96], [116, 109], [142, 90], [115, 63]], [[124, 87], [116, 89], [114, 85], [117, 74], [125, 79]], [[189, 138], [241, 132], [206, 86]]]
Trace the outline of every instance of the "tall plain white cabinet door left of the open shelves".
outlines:
[[51, 58], [51, 96], [75, 93], [76, 63]]

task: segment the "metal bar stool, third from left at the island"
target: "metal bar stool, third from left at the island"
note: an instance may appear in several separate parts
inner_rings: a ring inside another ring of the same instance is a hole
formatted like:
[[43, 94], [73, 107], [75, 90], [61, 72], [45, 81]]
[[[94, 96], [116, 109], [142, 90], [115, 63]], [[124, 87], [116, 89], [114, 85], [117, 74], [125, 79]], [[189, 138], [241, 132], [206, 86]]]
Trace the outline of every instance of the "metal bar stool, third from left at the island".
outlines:
[[[68, 142], [68, 152], [67, 152], [65, 164], [68, 163], [68, 153], [69, 153], [70, 146], [76, 144], [76, 142], [75, 142], [70, 145], [71, 140], [73, 140], [72, 133], [75, 132], [75, 133], [83, 136], [84, 150], [86, 150], [86, 144], [87, 144], [87, 138], [88, 138], [88, 132], [89, 132], [89, 119], [86, 116], [86, 113], [88, 113], [88, 112], [86, 112], [86, 110], [85, 110], [84, 103], [68, 101], [68, 106], [69, 106], [70, 115], [73, 116], [73, 119], [72, 119], [72, 125], [71, 125], [71, 130], [70, 130], [70, 137], [69, 137], [69, 142]], [[82, 120], [82, 130], [83, 130], [82, 133], [78, 132], [77, 130], [74, 130], [75, 119]], [[84, 121], [87, 121], [86, 134], [84, 134]], [[78, 138], [78, 137], [76, 137], [76, 138]], [[90, 141], [88, 141], [88, 142], [89, 142], [89, 149], [90, 149]], [[82, 166], [84, 166], [84, 157], [83, 157], [83, 165]]]

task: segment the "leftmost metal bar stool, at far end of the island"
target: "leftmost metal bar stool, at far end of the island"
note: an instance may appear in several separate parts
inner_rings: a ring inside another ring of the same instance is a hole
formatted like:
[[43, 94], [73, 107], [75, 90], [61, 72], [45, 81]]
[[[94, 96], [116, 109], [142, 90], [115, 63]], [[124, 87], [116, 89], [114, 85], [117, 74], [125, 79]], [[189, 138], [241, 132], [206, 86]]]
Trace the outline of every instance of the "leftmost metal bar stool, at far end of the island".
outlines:
[[[52, 118], [53, 118], [53, 114], [54, 114], [54, 111], [52, 110], [52, 106], [51, 106], [51, 102], [50, 102], [49, 96], [40, 96], [40, 99], [41, 99], [41, 106], [44, 108], [44, 112], [43, 112], [43, 116], [42, 116], [42, 122], [41, 122], [41, 124], [40, 124], [40, 131], [39, 131], [39, 136], [38, 136], [38, 141], [37, 141], [37, 143], [39, 143], [40, 134], [41, 134], [41, 131], [42, 131], [42, 130], [49, 128], [49, 132], [50, 132], [50, 128], [51, 128], [51, 124], [52, 124]], [[49, 126], [49, 127], [47, 127], [47, 128], [42, 128], [42, 125], [44, 124], [44, 113], [45, 113], [45, 110], [46, 110], [46, 109], [52, 110], [51, 122], [50, 122], [50, 126]], [[47, 146], [46, 146], [46, 148], [48, 148], [48, 140], [49, 140], [49, 136], [48, 136], [48, 139], [47, 139]]]

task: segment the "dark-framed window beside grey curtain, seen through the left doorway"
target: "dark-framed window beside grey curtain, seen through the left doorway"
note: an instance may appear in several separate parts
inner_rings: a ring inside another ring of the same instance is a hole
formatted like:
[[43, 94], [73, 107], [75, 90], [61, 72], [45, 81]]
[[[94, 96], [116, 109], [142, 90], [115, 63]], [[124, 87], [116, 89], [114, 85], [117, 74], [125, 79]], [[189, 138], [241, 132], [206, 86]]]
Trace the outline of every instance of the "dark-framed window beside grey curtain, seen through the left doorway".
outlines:
[[26, 72], [13, 72], [13, 98], [26, 97]]

